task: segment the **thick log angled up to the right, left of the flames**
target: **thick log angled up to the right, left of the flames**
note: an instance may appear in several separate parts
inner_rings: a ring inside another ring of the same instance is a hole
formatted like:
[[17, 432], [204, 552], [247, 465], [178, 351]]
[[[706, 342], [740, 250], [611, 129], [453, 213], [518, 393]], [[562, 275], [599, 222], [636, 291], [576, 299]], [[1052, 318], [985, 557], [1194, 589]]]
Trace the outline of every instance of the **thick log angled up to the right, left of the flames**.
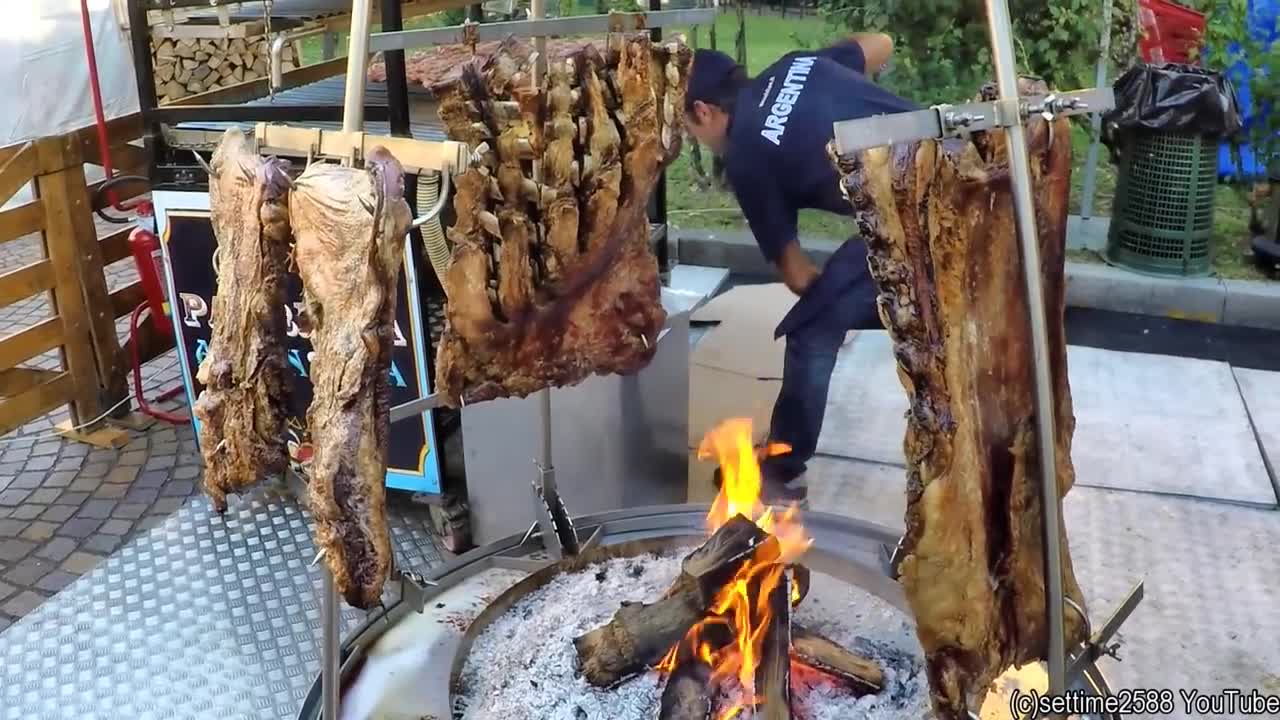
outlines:
[[741, 515], [726, 523], [685, 559], [694, 574], [682, 571], [662, 600], [623, 603], [608, 624], [573, 639], [582, 676], [607, 688], [662, 660], [707, 615], [703, 582], [724, 571], [731, 578], [765, 537]]

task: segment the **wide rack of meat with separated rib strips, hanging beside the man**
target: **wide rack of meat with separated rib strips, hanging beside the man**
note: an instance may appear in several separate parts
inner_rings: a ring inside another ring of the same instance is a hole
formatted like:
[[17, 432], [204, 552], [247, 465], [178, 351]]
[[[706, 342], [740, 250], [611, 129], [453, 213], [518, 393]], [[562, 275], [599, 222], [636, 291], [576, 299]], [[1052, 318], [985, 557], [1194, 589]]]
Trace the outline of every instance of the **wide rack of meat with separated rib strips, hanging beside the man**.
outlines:
[[[613, 35], [553, 58], [539, 87], [524, 45], [503, 44], [433, 88], [458, 178], [444, 401], [525, 397], [593, 373], [634, 373], [666, 320], [646, 208], [680, 154], [692, 53]], [[534, 164], [541, 169], [535, 182]]]

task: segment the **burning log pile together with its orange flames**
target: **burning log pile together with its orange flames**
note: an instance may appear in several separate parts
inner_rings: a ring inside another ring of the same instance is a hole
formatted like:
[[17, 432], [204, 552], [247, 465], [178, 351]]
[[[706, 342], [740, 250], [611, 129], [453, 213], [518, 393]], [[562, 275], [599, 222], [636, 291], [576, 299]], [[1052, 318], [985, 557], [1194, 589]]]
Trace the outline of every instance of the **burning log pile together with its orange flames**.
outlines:
[[[708, 514], [708, 539], [654, 603], [625, 603], [613, 619], [575, 641], [582, 675], [596, 687], [654, 667], [667, 675], [659, 719], [791, 717], [797, 678], [822, 674], [855, 696], [879, 692], [879, 666], [792, 621], [809, 570], [800, 562], [813, 539], [797, 507], [778, 512], [760, 501], [759, 460], [787, 452], [756, 450], [751, 423], [728, 420], [699, 448], [721, 466], [722, 486]], [[732, 700], [717, 701], [722, 696]]]

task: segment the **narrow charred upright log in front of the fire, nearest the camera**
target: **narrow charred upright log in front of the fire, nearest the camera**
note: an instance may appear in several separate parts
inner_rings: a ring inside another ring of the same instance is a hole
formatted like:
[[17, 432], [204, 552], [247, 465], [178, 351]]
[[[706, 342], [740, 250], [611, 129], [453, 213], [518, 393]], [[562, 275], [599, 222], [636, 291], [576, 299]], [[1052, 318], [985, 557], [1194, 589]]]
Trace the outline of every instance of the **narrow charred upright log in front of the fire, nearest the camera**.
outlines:
[[[768, 587], [772, 578], [777, 583]], [[791, 573], [781, 565], [763, 573], [759, 593], [769, 618], [755, 667], [755, 720], [791, 720]], [[760, 603], [756, 603], [760, 607]], [[756, 618], [756, 621], [764, 620]]]

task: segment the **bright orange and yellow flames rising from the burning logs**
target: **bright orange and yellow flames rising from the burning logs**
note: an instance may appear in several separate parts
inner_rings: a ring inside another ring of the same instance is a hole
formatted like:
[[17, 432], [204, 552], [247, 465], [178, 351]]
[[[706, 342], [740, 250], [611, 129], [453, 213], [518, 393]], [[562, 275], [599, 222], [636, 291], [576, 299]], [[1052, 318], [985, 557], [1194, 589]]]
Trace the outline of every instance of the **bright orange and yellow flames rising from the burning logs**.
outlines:
[[[755, 448], [749, 419], [726, 420], [707, 434], [698, 450], [699, 459], [716, 459], [721, 468], [719, 495], [707, 515], [708, 532], [714, 533], [735, 515], [742, 515], [777, 538], [776, 546], [760, 546], [755, 556], [737, 570], [717, 593], [709, 609], [710, 616], [695, 625], [658, 665], [660, 671], [675, 670], [680, 664], [680, 647], [684, 646], [692, 650], [694, 659], [712, 667], [713, 678], [736, 676], [746, 700], [719, 714], [718, 720], [731, 720], [748, 703], [763, 700], [755, 694], [755, 671], [772, 619], [769, 596], [783, 580], [786, 565], [813, 544], [797, 507], [791, 506], [778, 516], [760, 501], [760, 460], [790, 451], [781, 443]], [[768, 548], [776, 551], [769, 552]], [[799, 600], [799, 588], [792, 587], [791, 602]], [[712, 624], [727, 624], [733, 633], [732, 643], [717, 650], [705, 642], [703, 633]]]

